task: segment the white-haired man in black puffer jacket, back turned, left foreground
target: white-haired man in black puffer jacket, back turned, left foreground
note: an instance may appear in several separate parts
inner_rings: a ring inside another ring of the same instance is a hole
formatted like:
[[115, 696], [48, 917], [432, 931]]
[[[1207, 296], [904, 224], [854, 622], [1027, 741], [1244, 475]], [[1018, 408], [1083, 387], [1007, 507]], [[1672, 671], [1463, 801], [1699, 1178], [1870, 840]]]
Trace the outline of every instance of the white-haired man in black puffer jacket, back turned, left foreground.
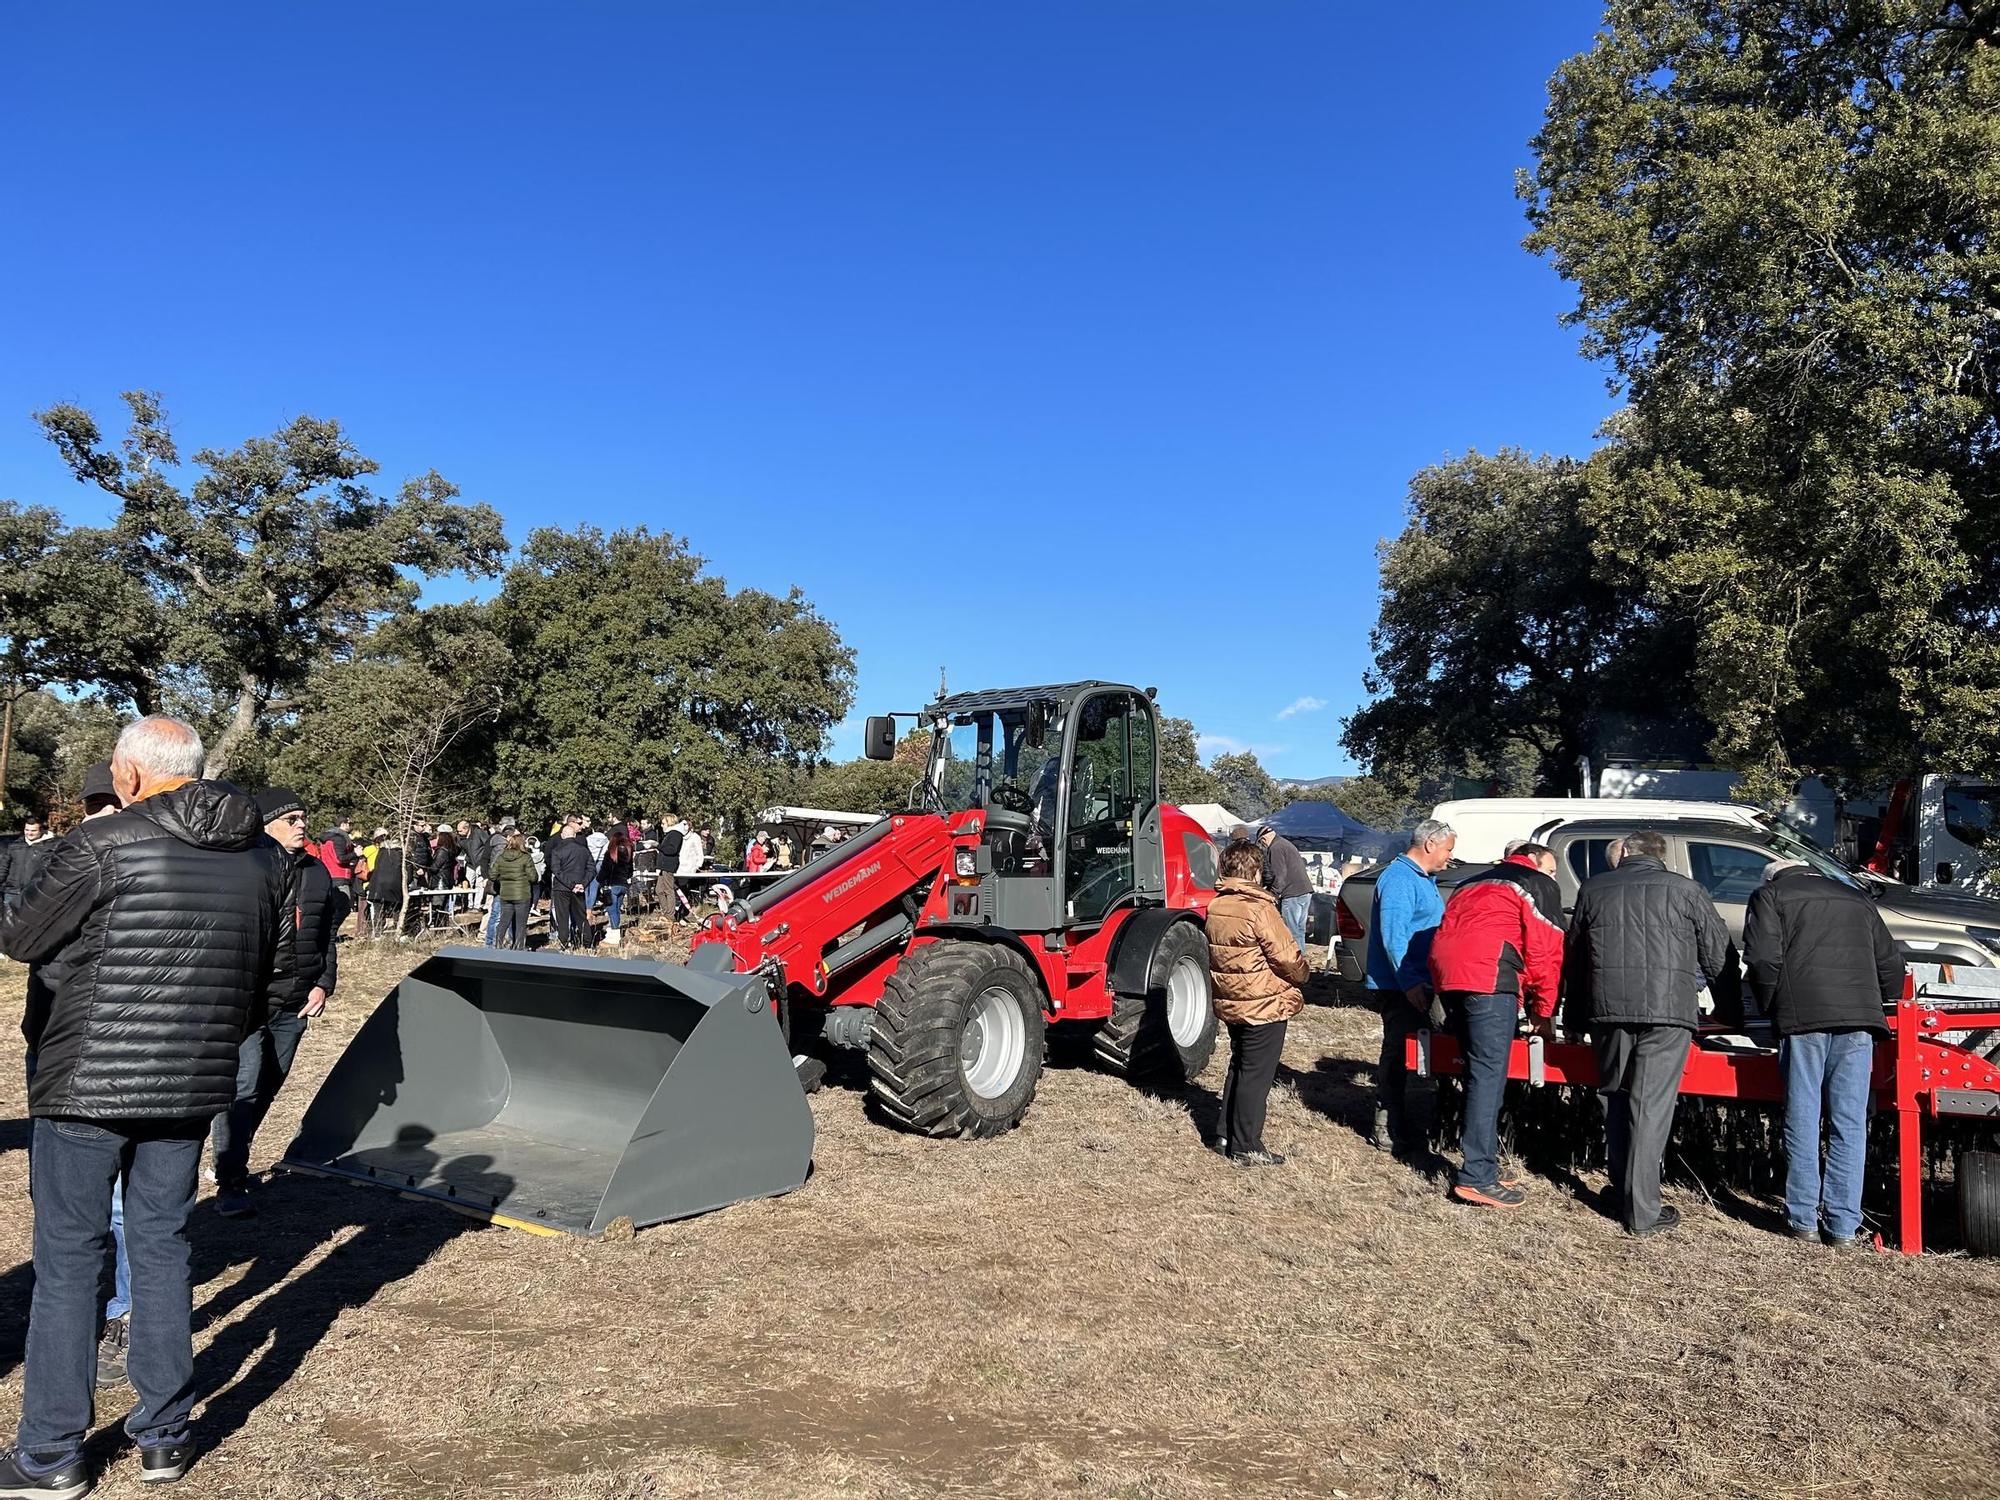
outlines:
[[112, 1184], [124, 1168], [132, 1260], [126, 1432], [140, 1476], [188, 1464], [194, 1340], [188, 1210], [208, 1122], [236, 1094], [236, 1056], [266, 1004], [286, 876], [256, 804], [202, 774], [202, 742], [172, 718], [118, 736], [124, 806], [50, 854], [0, 948], [42, 966], [36, 1052], [34, 1304], [20, 1432], [0, 1494], [76, 1496], [90, 1484], [98, 1296]]

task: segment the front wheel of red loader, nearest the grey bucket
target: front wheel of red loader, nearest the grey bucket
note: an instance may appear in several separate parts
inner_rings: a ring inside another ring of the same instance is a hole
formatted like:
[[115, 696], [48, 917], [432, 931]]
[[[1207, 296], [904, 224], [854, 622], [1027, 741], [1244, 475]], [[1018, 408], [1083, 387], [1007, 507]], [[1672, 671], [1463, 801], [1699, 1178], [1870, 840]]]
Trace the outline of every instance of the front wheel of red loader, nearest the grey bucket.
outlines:
[[[876, 1108], [924, 1136], [1012, 1130], [1042, 1080], [1042, 982], [1004, 944], [912, 948], [888, 976], [868, 1032]], [[988, 1048], [996, 1048], [990, 1058]]]

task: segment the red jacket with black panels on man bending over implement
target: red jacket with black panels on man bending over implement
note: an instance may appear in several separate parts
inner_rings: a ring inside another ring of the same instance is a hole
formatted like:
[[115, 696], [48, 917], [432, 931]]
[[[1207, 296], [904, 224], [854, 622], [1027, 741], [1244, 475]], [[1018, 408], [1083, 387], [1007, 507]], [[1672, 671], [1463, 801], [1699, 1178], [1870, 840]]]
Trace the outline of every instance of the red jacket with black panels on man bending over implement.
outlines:
[[1534, 860], [1508, 856], [1452, 892], [1430, 944], [1430, 982], [1466, 994], [1520, 994], [1554, 1016], [1562, 988], [1562, 892]]

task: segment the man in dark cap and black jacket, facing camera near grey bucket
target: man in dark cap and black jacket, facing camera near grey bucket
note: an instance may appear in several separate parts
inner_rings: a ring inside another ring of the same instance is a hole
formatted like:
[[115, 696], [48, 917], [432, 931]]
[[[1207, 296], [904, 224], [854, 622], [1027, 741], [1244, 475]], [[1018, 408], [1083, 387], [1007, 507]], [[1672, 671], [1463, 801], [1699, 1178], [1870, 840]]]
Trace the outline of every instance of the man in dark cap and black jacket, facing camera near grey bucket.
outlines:
[[216, 1116], [216, 1212], [222, 1218], [250, 1218], [250, 1142], [278, 1098], [306, 1022], [326, 1010], [340, 982], [340, 954], [334, 936], [348, 918], [346, 896], [334, 888], [314, 854], [306, 850], [306, 806], [288, 786], [258, 794], [264, 838], [284, 852], [286, 906], [290, 932], [278, 948], [270, 990], [270, 1014], [244, 1038], [236, 1058], [236, 1100]]

